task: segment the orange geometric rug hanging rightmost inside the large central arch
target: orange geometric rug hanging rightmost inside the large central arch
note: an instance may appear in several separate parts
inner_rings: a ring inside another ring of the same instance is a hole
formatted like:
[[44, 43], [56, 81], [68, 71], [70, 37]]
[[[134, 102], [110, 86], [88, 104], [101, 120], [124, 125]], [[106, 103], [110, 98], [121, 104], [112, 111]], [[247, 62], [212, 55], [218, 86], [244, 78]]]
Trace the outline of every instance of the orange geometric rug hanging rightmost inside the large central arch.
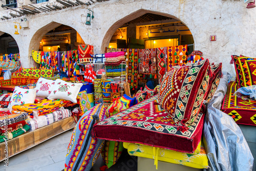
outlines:
[[173, 66], [184, 65], [187, 60], [187, 45], [167, 47], [167, 71]]

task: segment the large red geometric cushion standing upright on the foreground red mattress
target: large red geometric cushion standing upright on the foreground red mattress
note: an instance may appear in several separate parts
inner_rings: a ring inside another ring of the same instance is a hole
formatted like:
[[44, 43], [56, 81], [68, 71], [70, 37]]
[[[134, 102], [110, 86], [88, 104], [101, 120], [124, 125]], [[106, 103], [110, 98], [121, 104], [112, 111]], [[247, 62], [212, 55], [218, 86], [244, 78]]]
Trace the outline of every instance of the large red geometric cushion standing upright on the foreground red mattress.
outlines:
[[167, 72], [159, 88], [158, 101], [178, 125], [193, 123], [206, 96], [210, 68], [201, 60]]

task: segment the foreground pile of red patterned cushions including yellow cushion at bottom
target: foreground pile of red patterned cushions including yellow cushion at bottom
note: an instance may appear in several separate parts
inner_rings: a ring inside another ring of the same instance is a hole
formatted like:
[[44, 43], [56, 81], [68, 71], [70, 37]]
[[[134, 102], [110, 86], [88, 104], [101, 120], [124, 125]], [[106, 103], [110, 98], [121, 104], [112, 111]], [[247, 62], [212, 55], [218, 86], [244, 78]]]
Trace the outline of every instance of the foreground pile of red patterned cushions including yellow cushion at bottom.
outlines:
[[[199, 150], [206, 113], [203, 102], [213, 96], [216, 78], [221, 75], [221, 65], [211, 70], [208, 59], [172, 67], [163, 77], [158, 95], [94, 125], [93, 135], [133, 143], [126, 145], [130, 154], [155, 159], [156, 166], [160, 151], [169, 154], [173, 150], [170, 157], [160, 160], [207, 168], [204, 149]], [[154, 95], [155, 91], [148, 93]]]

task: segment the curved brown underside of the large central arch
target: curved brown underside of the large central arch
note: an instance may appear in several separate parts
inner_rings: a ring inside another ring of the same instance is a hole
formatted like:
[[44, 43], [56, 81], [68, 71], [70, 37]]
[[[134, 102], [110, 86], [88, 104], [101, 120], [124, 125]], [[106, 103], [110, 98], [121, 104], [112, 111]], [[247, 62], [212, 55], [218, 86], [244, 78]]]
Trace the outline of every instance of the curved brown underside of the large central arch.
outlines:
[[[115, 31], [122, 26], [123, 24], [130, 22], [131, 20], [138, 18], [146, 13], [153, 13], [153, 14], [158, 14], [158, 15], [163, 15], [163, 16], [167, 16], [167, 17], [172, 17], [175, 18], [177, 20], [180, 20], [185, 26], [186, 23], [184, 23], [181, 19], [179, 19], [177, 16], [175, 15], [171, 15], [168, 13], [164, 13], [164, 12], [158, 12], [158, 11], [152, 11], [152, 10], [145, 10], [145, 9], [140, 9], [137, 10], [129, 15], [126, 15], [125, 17], [123, 17], [122, 19], [119, 19], [116, 23], [114, 23], [109, 29], [108, 31], [106, 31], [105, 36], [102, 40], [102, 44], [101, 44], [101, 52], [104, 53], [105, 47], [108, 47], [109, 42], [111, 40], [112, 35], [115, 33]], [[189, 29], [190, 30], [190, 29]], [[190, 30], [191, 32], [191, 30]], [[192, 32], [191, 32], [192, 33]], [[193, 36], [193, 33], [192, 33]]]

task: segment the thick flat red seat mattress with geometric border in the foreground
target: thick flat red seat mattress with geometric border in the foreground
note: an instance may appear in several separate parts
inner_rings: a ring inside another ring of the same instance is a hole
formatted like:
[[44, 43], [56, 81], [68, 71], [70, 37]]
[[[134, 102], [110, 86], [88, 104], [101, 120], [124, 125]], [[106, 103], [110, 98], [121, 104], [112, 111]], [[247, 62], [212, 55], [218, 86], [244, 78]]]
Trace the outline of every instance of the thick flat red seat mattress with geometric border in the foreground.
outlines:
[[[155, 95], [94, 125], [94, 136], [194, 153], [201, 140], [204, 114], [200, 112], [188, 129], [182, 129], [157, 98]], [[157, 138], [151, 141], [148, 137]]]

